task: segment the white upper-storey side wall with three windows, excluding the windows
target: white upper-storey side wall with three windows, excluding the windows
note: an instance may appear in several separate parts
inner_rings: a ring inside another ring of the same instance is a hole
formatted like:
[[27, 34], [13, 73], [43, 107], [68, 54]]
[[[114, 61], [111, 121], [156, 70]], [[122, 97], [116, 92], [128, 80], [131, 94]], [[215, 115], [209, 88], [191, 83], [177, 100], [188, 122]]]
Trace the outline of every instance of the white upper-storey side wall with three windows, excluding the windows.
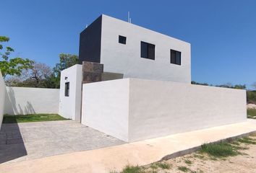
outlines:
[[[126, 45], [119, 35], [127, 37]], [[140, 42], [155, 45], [155, 60], [140, 58]], [[182, 66], [170, 63], [170, 50], [182, 52]], [[190, 44], [128, 22], [103, 15], [101, 63], [104, 71], [124, 74], [124, 78], [153, 79], [189, 83]]]

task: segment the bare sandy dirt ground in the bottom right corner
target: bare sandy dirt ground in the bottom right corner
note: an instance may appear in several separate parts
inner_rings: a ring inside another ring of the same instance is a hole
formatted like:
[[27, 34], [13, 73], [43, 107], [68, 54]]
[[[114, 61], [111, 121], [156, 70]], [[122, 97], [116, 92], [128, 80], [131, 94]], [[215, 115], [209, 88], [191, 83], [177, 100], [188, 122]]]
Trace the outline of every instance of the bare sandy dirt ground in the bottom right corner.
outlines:
[[[250, 138], [256, 139], [256, 136]], [[188, 154], [175, 159], [169, 159], [168, 161], [162, 161], [170, 165], [168, 169], [162, 169], [160, 167], [152, 167], [152, 164], [145, 167], [144, 170], [150, 173], [162, 173], [162, 172], [256, 172], [256, 145], [241, 143], [247, 149], [242, 150], [242, 154], [238, 156], [229, 156], [226, 158], [216, 158], [208, 156], [208, 154], [201, 154], [196, 152], [194, 154]], [[182, 170], [179, 170], [182, 169]]]

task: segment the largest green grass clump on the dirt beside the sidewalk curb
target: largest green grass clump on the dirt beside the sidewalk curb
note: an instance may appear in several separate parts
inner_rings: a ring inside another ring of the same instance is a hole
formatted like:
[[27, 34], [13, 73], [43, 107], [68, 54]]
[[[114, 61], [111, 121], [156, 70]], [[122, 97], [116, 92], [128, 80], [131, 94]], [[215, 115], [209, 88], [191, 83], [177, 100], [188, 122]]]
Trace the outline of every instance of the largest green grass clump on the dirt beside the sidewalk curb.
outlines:
[[203, 144], [200, 151], [215, 157], [236, 156], [239, 154], [237, 148], [227, 142]]

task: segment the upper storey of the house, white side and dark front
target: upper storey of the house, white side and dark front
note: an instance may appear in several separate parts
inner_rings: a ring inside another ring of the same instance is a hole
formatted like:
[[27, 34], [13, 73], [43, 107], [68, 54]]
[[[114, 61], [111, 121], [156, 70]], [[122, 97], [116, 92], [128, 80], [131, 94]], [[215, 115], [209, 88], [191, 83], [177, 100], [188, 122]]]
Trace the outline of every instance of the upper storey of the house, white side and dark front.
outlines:
[[104, 14], [80, 33], [79, 60], [123, 78], [191, 82], [189, 43]]

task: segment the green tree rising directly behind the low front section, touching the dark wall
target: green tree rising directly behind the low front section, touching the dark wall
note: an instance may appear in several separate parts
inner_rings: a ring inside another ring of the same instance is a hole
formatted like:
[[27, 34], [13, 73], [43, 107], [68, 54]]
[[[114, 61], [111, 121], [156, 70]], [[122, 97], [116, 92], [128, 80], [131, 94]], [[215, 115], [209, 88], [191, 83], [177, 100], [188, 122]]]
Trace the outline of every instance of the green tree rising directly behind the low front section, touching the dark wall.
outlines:
[[67, 53], [59, 54], [59, 63], [56, 63], [56, 66], [54, 67], [55, 78], [50, 78], [51, 82], [55, 83], [56, 88], [59, 88], [60, 85], [59, 83], [61, 79], [61, 71], [71, 66], [74, 66], [77, 63], [78, 56]]

